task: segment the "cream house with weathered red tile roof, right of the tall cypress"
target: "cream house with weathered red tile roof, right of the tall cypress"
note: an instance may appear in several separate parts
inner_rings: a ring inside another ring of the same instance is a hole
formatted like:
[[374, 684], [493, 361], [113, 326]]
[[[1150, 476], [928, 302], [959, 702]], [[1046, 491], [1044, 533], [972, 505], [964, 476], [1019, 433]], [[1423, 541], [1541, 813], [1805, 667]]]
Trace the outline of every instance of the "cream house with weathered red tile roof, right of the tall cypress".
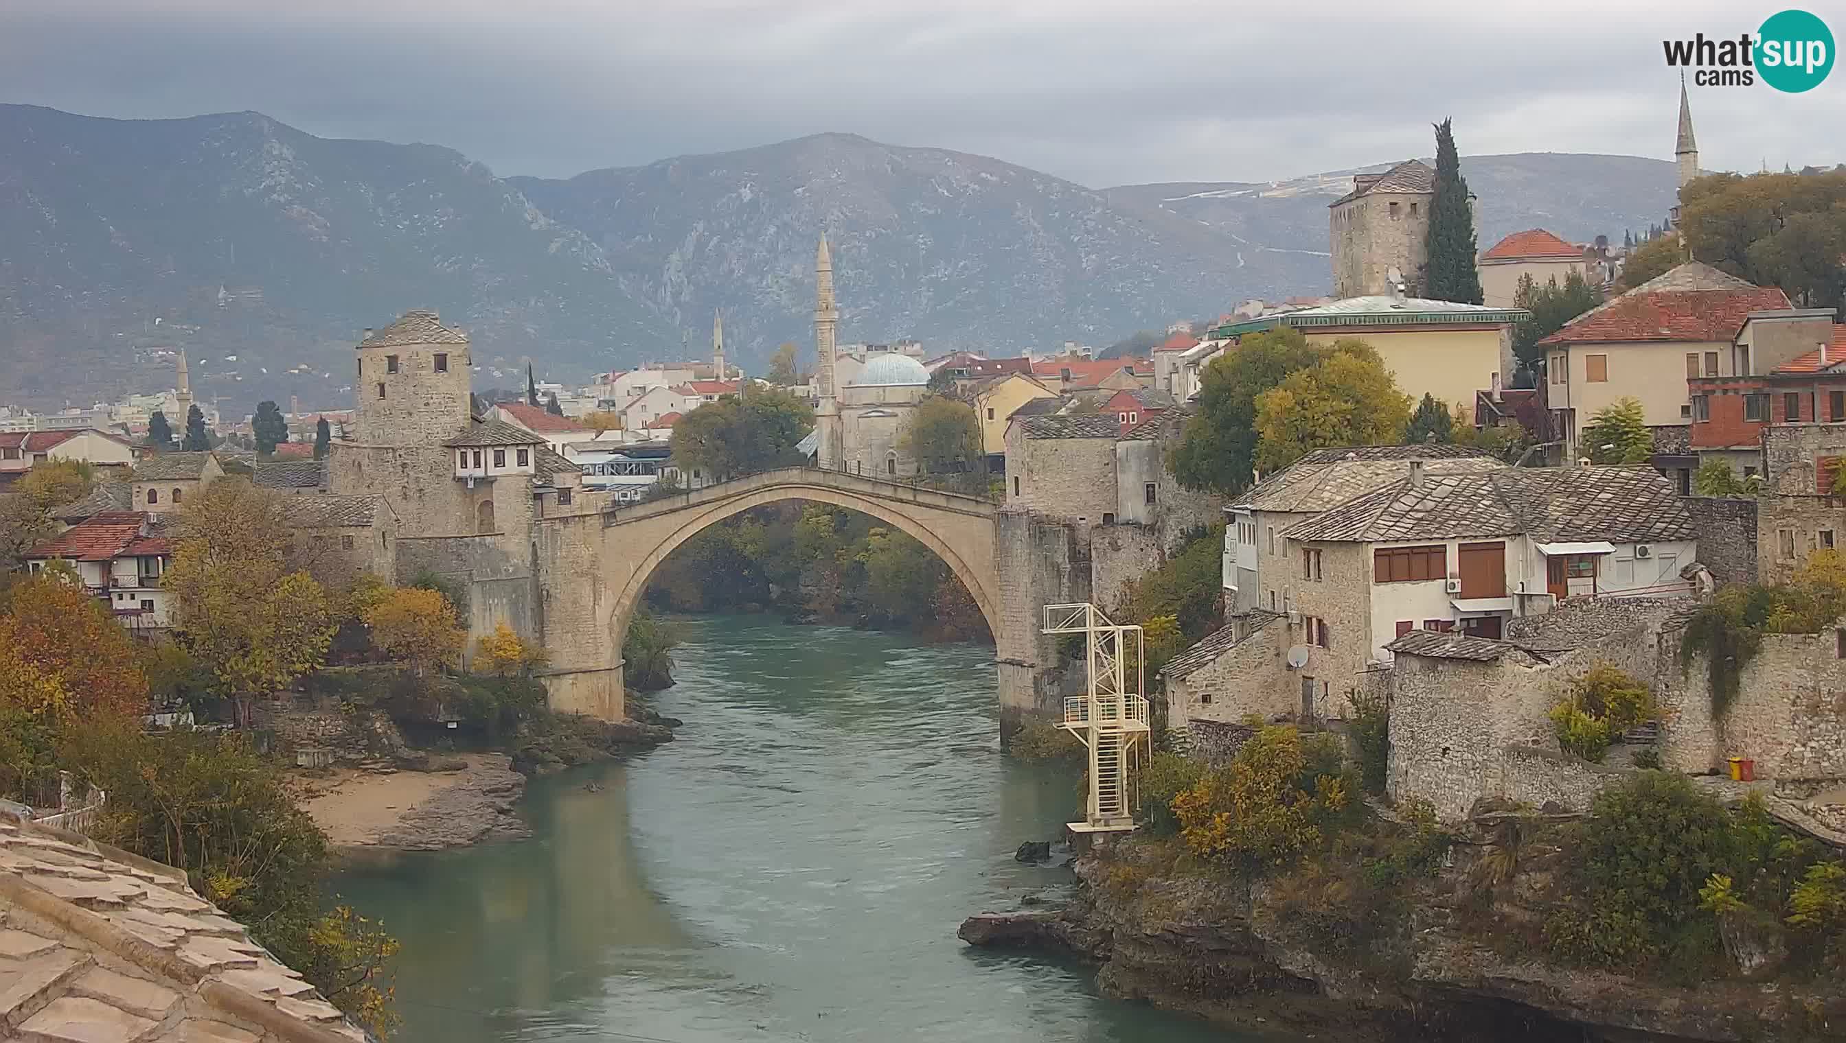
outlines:
[[[1752, 312], [1787, 310], [1789, 297], [1709, 264], [1687, 262], [1571, 319], [1540, 342], [1545, 397], [1569, 460], [1586, 454], [1582, 428], [1619, 399], [1636, 399], [1648, 426], [1695, 419], [1691, 388], [1680, 375], [1737, 377], [1767, 358], [1744, 362], [1732, 336]], [[1399, 382], [1401, 384], [1401, 382]]]

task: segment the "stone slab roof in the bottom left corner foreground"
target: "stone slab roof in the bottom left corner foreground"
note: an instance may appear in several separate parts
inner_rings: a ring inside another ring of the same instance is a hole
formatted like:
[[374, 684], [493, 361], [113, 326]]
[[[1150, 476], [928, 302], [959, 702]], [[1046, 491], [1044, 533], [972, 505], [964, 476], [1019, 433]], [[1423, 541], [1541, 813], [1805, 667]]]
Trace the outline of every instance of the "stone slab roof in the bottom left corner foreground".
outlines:
[[0, 1039], [364, 1043], [172, 866], [0, 816]]

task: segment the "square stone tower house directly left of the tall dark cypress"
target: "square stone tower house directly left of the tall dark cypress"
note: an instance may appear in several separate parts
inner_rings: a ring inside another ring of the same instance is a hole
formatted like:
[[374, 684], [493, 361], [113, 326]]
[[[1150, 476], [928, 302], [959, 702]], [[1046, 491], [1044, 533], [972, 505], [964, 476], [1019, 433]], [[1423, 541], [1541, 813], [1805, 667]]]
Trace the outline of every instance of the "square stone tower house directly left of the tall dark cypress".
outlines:
[[1436, 172], [1416, 159], [1353, 177], [1353, 190], [1327, 207], [1333, 295], [1416, 294], [1429, 268], [1434, 198]]

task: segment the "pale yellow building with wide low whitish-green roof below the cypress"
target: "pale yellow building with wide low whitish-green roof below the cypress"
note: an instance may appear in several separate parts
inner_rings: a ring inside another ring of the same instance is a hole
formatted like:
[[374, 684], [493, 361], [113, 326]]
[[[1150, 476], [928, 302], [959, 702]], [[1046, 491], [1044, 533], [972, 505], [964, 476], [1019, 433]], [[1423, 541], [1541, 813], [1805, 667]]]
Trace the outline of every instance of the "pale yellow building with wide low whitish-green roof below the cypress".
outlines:
[[1294, 327], [1309, 343], [1362, 340], [1377, 349], [1397, 390], [1412, 401], [1425, 393], [1438, 402], [1468, 406], [1475, 393], [1503, 386], [1516, 362], [1512, 327], [1527, 318], [1519, 308], [1456, 305], [1377, 294], [1300, 308], [1213, 329], [1211, 340]]

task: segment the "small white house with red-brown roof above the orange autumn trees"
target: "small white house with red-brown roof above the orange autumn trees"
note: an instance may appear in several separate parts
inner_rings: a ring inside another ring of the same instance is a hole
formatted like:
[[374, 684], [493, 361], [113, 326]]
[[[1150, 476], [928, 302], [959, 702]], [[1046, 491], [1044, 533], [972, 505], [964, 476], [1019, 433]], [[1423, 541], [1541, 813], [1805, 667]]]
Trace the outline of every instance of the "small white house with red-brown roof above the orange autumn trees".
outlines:
[[174, 557], [174, 545], [155, 522], [157, 515], [148, 511], [102, 511], [33, 546], [20, 559], [31, 572], [66, 561], [78, 570], [83, 589], [102, 598], [124, 626], [166, 629], [174, 622], [161, 576]]

